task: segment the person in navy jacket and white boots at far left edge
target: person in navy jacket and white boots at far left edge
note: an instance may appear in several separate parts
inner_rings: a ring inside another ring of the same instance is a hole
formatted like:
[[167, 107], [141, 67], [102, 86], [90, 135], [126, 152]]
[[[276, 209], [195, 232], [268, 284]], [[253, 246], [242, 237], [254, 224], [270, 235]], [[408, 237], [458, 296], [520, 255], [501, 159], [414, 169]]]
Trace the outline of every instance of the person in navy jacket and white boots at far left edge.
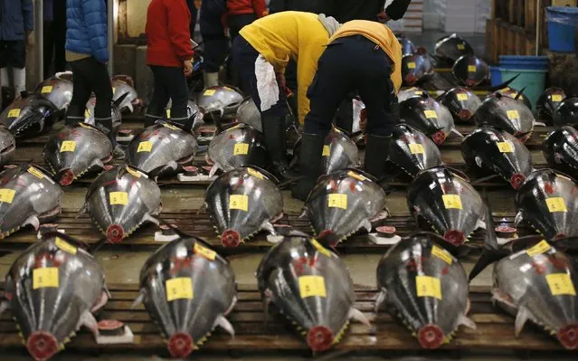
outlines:
[[32, 0], [0, 0], [0, 82], [10, 87], [8, 67], [12, 67], [16, 94], [26, 88], [26, 39], [33, 43]]

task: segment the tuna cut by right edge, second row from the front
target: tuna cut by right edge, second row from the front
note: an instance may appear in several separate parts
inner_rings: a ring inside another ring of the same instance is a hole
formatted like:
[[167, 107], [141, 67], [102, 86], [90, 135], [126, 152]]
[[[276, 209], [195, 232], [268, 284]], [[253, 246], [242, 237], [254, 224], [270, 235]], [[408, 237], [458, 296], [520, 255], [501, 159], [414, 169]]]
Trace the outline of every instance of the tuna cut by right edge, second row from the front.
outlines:
[[516, 193], [516, 223], [522, 219], [549, 241], [578, 235], [578, 185], [553, 169], [526, 178]]

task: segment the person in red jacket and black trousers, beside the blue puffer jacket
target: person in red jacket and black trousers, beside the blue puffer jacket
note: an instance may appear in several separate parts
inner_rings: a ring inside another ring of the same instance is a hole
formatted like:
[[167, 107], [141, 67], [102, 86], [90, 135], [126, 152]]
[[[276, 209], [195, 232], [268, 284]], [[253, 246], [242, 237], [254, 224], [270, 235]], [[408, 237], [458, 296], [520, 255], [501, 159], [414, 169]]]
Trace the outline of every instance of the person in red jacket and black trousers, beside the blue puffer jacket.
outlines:
[[163, 118], [166, 104], [172, 100], [171, 123], [186, 131], [193, 128], [193, 119], [186, 112], [186, 76], [193, 73], [194, 55], [190, 23], [185, 0], [152, 0], [148, 5], [147, 65], [153, 71], [155, 85], [145, 114], [147, 127]]

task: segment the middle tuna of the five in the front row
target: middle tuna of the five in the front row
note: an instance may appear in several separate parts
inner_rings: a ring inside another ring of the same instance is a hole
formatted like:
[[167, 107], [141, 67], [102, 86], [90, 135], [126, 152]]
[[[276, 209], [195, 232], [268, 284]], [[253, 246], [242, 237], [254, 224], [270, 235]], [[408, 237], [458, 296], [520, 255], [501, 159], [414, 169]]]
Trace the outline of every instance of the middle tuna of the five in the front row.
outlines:
[[302, 233], [290, 233], [265, 255], [256, 273], [268, 305], [298, 328], [313, 351], [326, 351], [339, 342], [349, 318], [369, 326], [354, 309], [353, 281], [335, 253]]

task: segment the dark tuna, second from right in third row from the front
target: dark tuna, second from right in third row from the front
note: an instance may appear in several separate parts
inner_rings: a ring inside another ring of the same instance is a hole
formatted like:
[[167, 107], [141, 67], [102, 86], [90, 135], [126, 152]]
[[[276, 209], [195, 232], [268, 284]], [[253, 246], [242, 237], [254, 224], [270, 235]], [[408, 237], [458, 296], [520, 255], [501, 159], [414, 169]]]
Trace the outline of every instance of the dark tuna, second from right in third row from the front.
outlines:
[[532, 173], [532, 157], [524, 143], [496, 128], [479, 128], [461, 142], [461, 155], [470, 168], [506, 179], [517, 189]]

